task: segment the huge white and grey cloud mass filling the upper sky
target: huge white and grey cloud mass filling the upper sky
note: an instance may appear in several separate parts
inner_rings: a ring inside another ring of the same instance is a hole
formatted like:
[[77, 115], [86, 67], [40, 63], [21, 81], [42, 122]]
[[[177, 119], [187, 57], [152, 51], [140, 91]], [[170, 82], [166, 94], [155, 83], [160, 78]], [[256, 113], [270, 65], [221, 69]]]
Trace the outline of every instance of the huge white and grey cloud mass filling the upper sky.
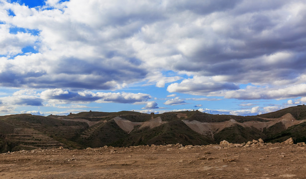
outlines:
[[0, 77], [15, 79], [0, 78], [2, 86], [117, 89], [146, 79], [164, 87], [182, 79], [161, 73], [170, 70], [195, 77], [168, 91], [203, 94], [237, 89], [235, 83], [292, 84], [305, 73], [306, 4], [299, 0], [273, 6], [247, 0], [48, 0], [41, 8], [1, 2], [0, 44], [10, 43], [0, 53], [38, 47], [36, 54], [14, 57], [16, 63], [2, 60], [8, 68]]

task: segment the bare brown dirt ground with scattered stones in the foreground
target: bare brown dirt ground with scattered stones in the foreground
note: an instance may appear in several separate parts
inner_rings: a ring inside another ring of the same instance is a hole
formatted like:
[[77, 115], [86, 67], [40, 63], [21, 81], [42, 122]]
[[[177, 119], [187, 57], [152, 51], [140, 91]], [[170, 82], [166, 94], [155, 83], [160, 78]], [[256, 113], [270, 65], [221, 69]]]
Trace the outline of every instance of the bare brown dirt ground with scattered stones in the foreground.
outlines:
[[0, 179], [305, 179], [305, 146], [36, 149], [0, 154]]

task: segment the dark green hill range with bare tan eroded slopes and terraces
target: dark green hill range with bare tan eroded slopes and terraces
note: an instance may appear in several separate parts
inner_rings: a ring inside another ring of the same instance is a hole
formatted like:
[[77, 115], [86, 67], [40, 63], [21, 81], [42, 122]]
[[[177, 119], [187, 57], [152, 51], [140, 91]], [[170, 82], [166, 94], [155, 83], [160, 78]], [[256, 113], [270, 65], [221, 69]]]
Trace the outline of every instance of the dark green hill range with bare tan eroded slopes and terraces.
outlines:
[[306, 106], [256, 116], [214, 115], [196, 111], [144, 114], [134, 111], [80, 112], [67, 116], [0, 116], [0, 152], [135, 145], [207, 145], [262, 138], [306, 142]]

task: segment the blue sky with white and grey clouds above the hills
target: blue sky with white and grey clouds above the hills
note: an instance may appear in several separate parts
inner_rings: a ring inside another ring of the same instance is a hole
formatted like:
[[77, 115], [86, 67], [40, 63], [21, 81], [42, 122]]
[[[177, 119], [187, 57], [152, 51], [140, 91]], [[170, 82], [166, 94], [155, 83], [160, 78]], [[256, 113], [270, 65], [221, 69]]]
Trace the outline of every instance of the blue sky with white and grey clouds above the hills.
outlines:
[[305, 0], [0, 0], [0, 115], [304, 103]]

